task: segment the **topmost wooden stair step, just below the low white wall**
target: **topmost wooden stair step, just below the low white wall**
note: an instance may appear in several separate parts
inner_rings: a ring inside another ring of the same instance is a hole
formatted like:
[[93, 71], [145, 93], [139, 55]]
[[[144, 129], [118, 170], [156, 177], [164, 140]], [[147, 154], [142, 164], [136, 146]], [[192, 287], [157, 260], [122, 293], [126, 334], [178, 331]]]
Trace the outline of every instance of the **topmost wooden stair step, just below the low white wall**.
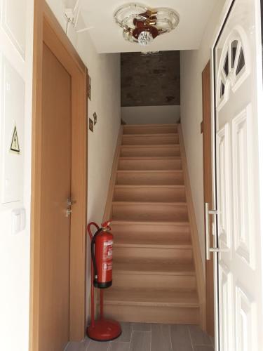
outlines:
[[123, 134], [177, 133], [177, 124], [133, 124], [123, 126]]

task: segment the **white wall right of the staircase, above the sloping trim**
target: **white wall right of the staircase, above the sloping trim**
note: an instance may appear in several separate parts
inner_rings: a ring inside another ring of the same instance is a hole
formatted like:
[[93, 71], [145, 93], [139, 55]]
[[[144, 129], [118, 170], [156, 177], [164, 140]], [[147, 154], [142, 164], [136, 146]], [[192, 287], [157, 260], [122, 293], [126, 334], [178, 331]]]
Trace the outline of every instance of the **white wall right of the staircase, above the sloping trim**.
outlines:
[[199, 50], [181, 52], [181, 123], [203, 265], [205, 264], [205, 234], [203, 223], [203, 135], [200, 133], [200, 124], [203, 119], [201, 74], [210, 59], [210, 48], [220, 26], [225, 2], [225, 0], [217, 0], [205, 28]]

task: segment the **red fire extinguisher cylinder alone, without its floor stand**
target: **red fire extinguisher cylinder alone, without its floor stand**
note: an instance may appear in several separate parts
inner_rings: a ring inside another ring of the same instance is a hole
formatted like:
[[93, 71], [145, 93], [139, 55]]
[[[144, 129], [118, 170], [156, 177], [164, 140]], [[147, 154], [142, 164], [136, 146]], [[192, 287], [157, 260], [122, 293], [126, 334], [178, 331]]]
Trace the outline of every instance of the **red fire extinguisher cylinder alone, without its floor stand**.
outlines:
[[91, 240], [91, 257], [94, 267], [95, 288], [105, 289], [112, 286], [112, 245], [113, 235], [109, 230], [110, 222], [102, 223]]

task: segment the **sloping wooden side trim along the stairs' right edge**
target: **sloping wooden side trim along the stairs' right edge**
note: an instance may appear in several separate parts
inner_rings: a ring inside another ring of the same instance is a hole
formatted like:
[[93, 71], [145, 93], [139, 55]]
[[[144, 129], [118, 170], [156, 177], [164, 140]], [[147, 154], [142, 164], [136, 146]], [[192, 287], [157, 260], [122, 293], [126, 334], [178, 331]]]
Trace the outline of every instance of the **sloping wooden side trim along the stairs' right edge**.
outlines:
[[200, 303], [200, 324], [201, 328], [205, 329], [205, 275], [203, 272], [203, 262], [201, 256], [201, 245], [198, 237], [198, 230], [196, 225], [196, 215], [194, 211], [194, 203], [191, 196], [191, 184], [187, 167], [187, 155], [184, 148], [184, 138], [182, 135], [182, 127], [178, 125], [178, 133], [180, 138], [182, 170], [184, 173], [184, 185], [187, 196], [187, 206], [189, 214], [189, 223], [191, 227], [191, 241], [193, 245], [194, 265], [196, 268], [196, 280], [198, 298]]

